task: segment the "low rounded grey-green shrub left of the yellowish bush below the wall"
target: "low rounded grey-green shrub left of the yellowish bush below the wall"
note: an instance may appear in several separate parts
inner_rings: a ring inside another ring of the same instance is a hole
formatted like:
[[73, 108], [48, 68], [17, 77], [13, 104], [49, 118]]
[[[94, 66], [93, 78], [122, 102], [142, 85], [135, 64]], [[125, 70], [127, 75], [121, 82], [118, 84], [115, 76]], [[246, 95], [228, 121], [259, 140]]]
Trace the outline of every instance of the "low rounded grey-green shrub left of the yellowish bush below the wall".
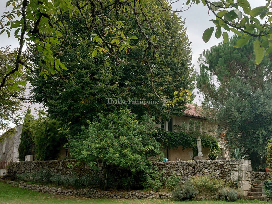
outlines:
[[194, 184], [188, 180], [182, 186], [177, 186], [175, 190], [172, 191], [172, 200], [191, 200], [197, 196], [197, 189]]

